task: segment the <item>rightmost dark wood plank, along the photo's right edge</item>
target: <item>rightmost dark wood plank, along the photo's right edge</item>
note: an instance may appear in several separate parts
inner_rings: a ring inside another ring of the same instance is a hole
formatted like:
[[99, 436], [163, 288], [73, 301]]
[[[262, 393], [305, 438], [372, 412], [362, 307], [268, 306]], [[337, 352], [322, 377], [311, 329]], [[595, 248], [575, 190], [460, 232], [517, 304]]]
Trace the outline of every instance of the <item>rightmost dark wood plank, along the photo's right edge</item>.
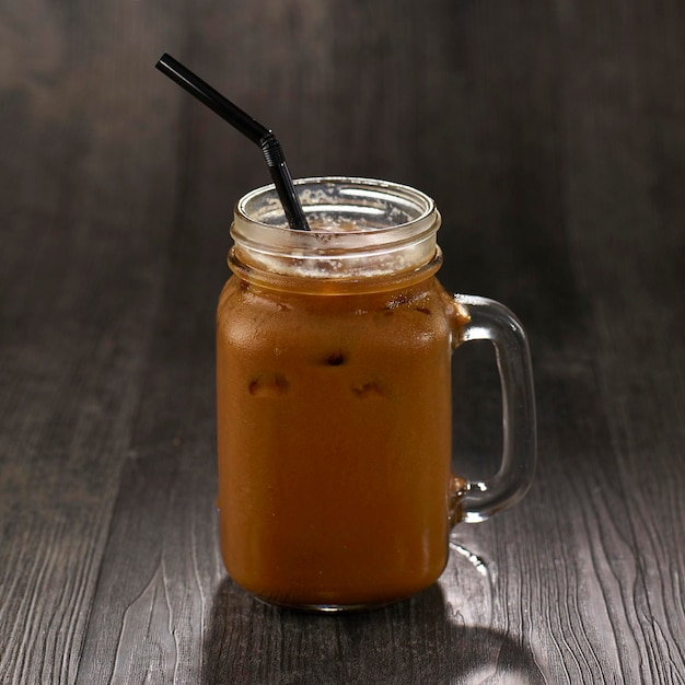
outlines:
[[622, 663], [639, 663], [636, 680], [667, 683], [685, 672], [685, 239], [675, 218], [685, 14], [672, 2], [615, 11], [592, 22], [579, 13], [567, 34], [567, 49], [596, 65], [591, 78], [567, 68], [568, 220], [595, 323], [613, 487], [627, 504], [618, 516], [597, 498], [599, 534], [588, 537]]

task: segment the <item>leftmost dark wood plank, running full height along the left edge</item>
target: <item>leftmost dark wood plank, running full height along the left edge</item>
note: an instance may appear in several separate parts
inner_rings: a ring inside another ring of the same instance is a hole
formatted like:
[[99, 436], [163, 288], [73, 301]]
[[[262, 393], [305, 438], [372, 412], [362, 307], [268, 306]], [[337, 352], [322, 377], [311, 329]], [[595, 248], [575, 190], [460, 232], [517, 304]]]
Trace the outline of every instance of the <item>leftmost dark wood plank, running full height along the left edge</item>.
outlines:
[[175, 100], [132, 35], [167, 30], [142, 4], [0, 12], [3, 683], [76, 680], [174, 197]]

